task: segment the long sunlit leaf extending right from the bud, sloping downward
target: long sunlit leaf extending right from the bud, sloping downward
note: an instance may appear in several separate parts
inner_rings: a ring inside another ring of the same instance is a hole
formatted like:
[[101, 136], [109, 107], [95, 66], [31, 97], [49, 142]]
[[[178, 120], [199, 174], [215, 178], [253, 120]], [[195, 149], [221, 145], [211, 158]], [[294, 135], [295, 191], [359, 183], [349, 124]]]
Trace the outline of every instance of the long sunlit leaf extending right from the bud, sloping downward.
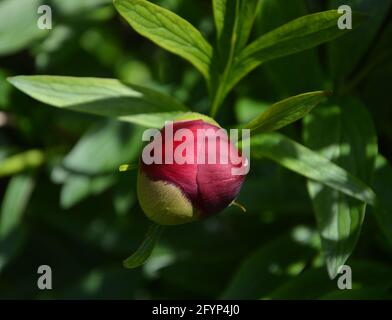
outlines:
[[305, 146], [273, 132], [250, 138], [251, 154], [266, 157], [304, 177], [374, 205], [376, 195], [364, 182]]

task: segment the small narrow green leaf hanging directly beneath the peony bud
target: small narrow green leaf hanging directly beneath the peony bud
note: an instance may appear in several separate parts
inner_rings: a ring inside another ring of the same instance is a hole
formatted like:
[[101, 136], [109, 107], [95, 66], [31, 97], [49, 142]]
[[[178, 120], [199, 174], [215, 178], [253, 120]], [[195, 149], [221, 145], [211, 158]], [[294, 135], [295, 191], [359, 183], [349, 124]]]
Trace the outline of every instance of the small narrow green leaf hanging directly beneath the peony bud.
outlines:
[[136, 250], [136, 252], [129, 258], [124, 260], [125, 268], [133, 269], [141, 266], [150, 257], [156, 242], [162, 234], [164, 227], [158, 224], [152, 224], [143, 240], [143, 243]]

